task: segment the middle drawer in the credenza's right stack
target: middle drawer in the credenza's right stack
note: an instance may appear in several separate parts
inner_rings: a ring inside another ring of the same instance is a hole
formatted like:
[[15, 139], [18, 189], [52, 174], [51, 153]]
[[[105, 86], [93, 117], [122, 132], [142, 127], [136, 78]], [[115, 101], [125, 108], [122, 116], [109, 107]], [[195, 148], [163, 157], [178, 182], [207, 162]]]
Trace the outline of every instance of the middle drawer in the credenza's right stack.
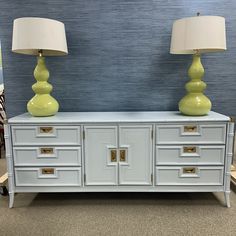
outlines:
[[225, 146], [156, 146], [156, 165], [224, 165]]

